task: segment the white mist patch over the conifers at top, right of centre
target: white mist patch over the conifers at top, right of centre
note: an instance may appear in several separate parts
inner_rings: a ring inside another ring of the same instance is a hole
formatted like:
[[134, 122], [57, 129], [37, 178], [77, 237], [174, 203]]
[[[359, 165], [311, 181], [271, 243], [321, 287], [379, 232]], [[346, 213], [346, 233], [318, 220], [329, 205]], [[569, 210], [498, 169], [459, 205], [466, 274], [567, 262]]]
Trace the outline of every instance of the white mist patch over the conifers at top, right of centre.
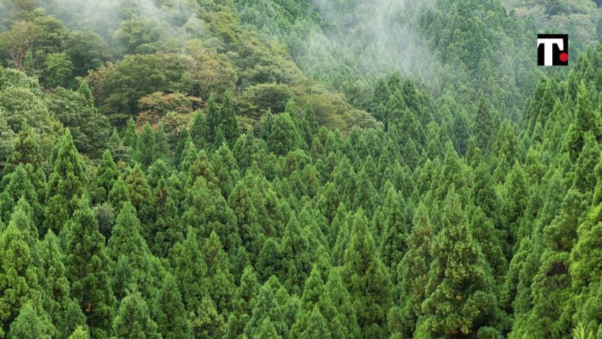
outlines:
[[[310, 72], [346, 72], [351, 66], [363, 80], [374, 81], [396, 71], [412, 78], [434, 78], [439, 68], [411, 22], [433, 1], [358, 0], [345, 6], [338, 1], [313, 0], [323, 20], [305, 39], [299, 55], [302, 69]], [[331, 62], [324, 62], [330, 59]], [[324, 69], [328, 64], [339, 69]]]

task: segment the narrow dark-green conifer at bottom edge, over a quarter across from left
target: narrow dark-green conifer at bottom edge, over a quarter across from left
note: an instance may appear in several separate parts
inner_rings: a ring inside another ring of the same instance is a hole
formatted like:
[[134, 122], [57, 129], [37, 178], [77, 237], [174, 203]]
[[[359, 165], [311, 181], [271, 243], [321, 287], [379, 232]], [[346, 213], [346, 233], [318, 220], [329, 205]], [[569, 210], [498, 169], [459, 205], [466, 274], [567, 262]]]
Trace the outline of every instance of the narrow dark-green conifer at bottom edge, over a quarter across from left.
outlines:
[[165, 339], [189, 338], [192, 324], [184, 309], [182, 298], [173, 275], [167, 275], [159, 291], [157, 315], [158, 331]]

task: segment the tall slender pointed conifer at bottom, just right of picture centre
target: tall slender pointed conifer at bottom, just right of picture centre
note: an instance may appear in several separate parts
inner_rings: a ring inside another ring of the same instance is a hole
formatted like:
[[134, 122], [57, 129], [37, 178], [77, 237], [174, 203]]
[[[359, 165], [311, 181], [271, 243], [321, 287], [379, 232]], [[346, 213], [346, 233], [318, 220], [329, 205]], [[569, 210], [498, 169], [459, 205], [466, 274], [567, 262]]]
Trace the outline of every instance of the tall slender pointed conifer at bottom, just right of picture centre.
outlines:
[[377, 256], [361, 210], [353, 216], [351, 242], [345, 251], [342, 276], [353, 299], [362, 336], [381, 338], [385, 333], [386, 314], [393, 302], [393, 284]]

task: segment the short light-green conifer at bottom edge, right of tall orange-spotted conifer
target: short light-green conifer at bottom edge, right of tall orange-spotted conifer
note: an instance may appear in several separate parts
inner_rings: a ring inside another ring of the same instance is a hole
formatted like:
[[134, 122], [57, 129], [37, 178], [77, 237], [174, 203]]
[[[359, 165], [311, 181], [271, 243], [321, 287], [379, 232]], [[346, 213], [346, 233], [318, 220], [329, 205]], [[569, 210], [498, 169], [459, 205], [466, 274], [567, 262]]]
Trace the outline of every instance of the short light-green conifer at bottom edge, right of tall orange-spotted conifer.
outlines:
[[121, 300], [113, 321], [113, 333], [118, 338], [161, 338], [148, 305], [139, 293], [132, 293]]

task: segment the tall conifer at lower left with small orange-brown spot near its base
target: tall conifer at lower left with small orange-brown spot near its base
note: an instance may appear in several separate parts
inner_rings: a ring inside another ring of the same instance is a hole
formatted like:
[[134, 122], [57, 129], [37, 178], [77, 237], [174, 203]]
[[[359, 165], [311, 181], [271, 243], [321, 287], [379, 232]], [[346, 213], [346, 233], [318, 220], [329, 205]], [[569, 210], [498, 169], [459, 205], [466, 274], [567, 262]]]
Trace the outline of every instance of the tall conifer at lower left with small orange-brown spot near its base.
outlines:
[[76, 299], [87, 318], [92, 336], [107, 335], [116, 305], [109, 284], [109, 257], [104, 237], [98, 230], [90, 202], [83, 196], [73, 212], [73, 219], [64, 228], [66, 277], [71, 296]]

